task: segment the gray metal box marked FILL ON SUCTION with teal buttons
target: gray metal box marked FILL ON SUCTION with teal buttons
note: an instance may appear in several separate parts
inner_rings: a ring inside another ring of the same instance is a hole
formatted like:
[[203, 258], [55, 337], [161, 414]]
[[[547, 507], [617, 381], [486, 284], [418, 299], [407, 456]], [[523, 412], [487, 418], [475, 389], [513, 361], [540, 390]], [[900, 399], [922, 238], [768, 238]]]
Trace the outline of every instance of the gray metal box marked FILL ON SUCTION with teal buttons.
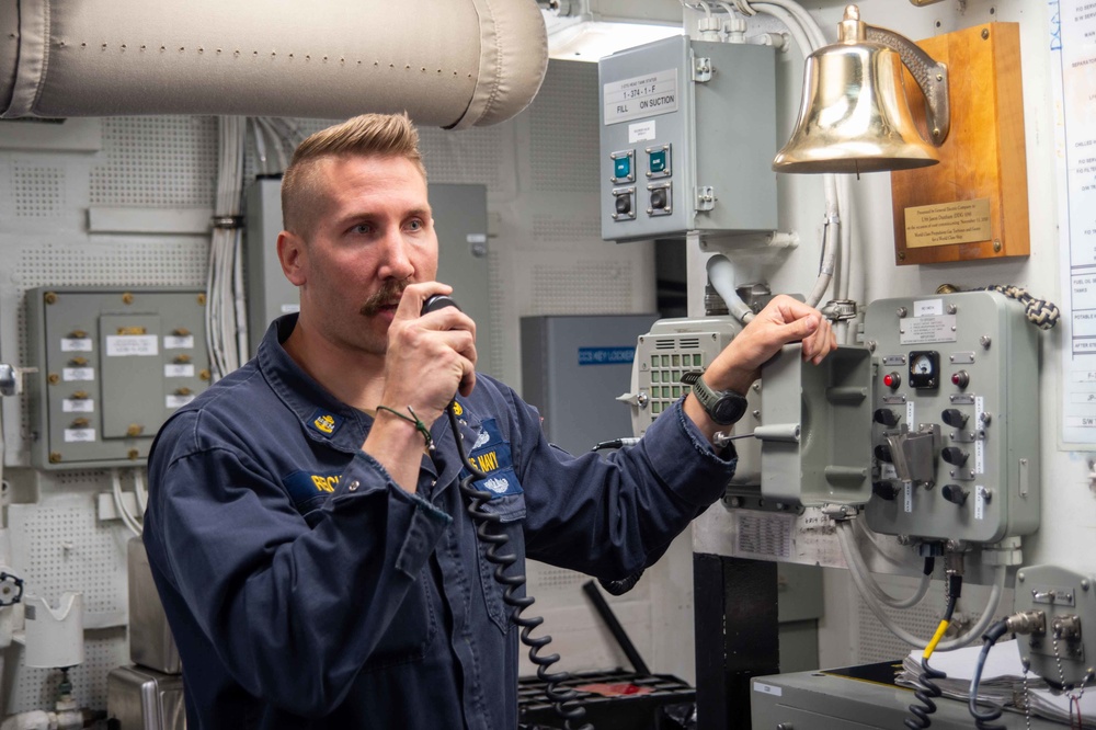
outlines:
[[675, 36], [598, 61], [602, 238], [777, 227], [775, 53]]

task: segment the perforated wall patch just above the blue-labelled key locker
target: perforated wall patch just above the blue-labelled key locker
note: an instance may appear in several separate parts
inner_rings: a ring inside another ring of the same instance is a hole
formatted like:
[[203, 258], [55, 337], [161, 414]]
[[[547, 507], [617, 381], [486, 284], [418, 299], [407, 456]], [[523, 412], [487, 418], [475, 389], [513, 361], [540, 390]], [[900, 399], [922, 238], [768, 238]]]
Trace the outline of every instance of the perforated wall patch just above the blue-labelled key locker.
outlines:
[[536, 264], [533, 311], [538, 315], [617, 315], [630, 311], [635, 275], [629, 261]]

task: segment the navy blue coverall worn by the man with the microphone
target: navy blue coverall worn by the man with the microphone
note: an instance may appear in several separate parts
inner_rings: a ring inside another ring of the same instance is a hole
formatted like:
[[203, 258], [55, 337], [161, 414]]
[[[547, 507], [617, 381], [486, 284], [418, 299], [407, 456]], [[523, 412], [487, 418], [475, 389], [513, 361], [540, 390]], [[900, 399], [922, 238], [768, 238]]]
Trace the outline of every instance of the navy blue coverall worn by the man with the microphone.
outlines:
[[[295, 322], [180, 409], [149, 458], [144, 539], [187, 726], [512, 730], [517, 631], [448, 420], [404, 491], [361, 450], [372, 418], [283, 350]], [[734, 468], [680, 402], [607, 457], [551, 446], [537, 411], [484, 375], [457, 409], [520, 558], [600, 578], [654, 562]]]

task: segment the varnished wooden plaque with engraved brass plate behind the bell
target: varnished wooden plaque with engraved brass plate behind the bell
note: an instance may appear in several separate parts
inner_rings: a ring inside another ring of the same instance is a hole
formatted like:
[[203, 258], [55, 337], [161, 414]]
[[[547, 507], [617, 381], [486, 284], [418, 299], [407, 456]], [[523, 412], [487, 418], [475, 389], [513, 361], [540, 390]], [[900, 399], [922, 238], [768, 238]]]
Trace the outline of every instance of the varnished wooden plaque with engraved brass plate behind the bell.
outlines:
[[[939, 164], [891, 173], [895, 263], [1028, 255], [1019, 25], [989, 23], [917, 45], [948, 66], [951, 132]], [[925, 98], [909, 70], [905, 93], [928, 139]]]

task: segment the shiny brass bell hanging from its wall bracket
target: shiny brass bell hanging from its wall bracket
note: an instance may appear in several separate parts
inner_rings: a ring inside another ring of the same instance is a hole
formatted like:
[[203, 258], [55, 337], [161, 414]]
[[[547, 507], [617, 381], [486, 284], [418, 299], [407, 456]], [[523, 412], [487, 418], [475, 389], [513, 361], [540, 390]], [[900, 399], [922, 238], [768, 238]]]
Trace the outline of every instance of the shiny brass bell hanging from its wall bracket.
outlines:
[[[925, 95], [934, 142], [944, 141], [948, 112], [946, 67], [897, 33], [861, 22], [857, 7], [848, 5], [840, 24], [838, 42], [807, 59], [799, 119], [788, 144], [773, 160], [773, 170], [859, 174], [939, 162], [936, 148], [922, 138], [913, 123], [902, 82], [902, 58], [895, 45], [925, 64], [926, 73], [936, 84], [943, 84], [926, 90]], [[933, 110], [934, 103], [939, 105], [941, 93], [943, 110]]]

